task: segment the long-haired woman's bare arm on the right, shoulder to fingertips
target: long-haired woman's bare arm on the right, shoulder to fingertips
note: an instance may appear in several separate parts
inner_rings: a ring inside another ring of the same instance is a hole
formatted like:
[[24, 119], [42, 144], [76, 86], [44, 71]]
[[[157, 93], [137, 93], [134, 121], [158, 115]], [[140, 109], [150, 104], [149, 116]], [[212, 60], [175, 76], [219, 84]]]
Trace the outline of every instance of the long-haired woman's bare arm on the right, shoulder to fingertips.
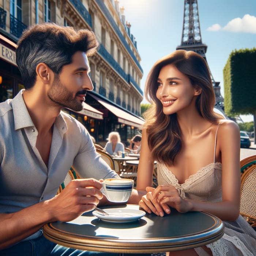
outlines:
[[157, 198], [161, 204], [166, 203], [180, 212], [205, 211], [222, 220], [236, 220], [240, 212], [240, 131], [238, 125], [233, 121], [225, 120], [219, 127], [217, 144], [222, 159], [221, 203], [182, 199], [173, 186], [159, 186], [153, 192], [153, 200]]

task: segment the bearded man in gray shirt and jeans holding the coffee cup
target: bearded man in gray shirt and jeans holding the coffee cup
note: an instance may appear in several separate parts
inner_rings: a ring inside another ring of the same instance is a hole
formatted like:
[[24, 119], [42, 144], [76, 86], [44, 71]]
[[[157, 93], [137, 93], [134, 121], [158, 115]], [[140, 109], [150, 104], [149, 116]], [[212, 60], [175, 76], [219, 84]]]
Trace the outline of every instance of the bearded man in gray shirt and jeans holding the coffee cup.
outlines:
[[[54, 23], [31, 26], [19, 39], [16, 62], [26, 89], [0, 103], [0, 250], [7, 248], [0, 255], [34, 255], [31, 248], [70, 255], [75, 250], [46, 240], [42, 226], [93, 210], [102, 199], [98, 180], [118, 177], [83, 125], [61, 112], [82, 110], [93, 90], [87, 56], [97, 46], [92, 31]], [[84, 179], [55, 196], [70, 166]]]

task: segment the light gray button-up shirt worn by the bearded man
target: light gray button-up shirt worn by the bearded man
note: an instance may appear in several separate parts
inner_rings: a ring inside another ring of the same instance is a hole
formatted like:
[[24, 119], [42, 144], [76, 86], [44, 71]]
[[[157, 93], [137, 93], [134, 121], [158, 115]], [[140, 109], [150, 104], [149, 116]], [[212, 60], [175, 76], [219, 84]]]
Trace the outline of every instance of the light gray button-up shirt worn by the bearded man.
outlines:
[[54, 122], [47, 167], [35, 147], [38, 132], [22, 93], [0, 103], [1, 213], [54, 197], [71, 166], [83, 178], [118, 177], [96, 153], [84, 126], [64, 112]]

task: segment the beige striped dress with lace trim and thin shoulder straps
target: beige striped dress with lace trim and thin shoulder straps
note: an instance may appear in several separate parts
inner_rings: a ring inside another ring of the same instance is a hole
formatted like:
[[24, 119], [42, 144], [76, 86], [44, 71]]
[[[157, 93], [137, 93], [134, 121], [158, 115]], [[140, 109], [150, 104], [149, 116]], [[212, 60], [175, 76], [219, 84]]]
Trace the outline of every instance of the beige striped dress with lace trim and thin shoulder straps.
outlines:
[[[222, 202], [222, 164], [215, 163], [215, 156], [213, 163], [189, 176], [183, 184], [179, 184], [174, 174], [162, 163], [158, 163], [157, 176], [159, 185], [172, 184], [183, 198], [202, 202]], [[240, 215], [234, 222], [223, 221], [223, 223], [225, 225], [223, 237], [207, 245], [212, 254], [218, 256], [256, 256], [256, 232], [245, 219]], [[208, 255], [200, 247], [195, 248], [195, 251], [200, 256]]]

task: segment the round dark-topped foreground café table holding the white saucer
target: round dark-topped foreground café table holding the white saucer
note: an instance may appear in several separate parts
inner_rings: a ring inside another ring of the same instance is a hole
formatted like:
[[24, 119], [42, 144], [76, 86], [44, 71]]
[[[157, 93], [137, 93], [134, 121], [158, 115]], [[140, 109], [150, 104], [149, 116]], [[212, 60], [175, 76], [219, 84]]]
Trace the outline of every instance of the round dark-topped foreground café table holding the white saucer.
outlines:
[[[104, 206], [139, 210], [138, 205]], [[105, 222], [84, 213], [70, 222], [51, 222], [44, 236], [71, 248], [113, 253], [154, 253], [177, 251], [210, 244], [224, 234], [222, 221], [204, 212], [179, 213], [159, 217], [155, 214], [127, 223]]]

